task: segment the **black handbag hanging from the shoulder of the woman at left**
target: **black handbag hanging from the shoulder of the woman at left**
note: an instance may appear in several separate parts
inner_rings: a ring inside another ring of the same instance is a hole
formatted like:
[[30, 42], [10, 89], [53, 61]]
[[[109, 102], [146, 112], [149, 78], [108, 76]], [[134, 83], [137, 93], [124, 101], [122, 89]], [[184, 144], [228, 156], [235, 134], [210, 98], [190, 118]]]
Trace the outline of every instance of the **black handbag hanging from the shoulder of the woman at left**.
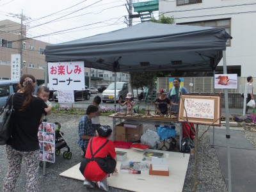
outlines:
[[[13, 96], [10, 95], [5, 106], [0, 112], [0, 145], [6, 145], [11, 138], [12, 126], [13, 126]], [[9, 100], [12, 99], [12, 104], [9, 104]]]

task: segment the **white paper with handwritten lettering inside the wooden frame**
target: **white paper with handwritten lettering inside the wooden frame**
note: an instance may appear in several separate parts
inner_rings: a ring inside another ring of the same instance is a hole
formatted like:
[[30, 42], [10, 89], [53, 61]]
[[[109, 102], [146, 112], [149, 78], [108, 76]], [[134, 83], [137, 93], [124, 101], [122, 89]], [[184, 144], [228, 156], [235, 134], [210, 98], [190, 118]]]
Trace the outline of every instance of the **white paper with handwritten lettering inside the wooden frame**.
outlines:
[[[184, 116], [193, 118], [214, 118], [214, 100], [212, 99], [193, 99], [184, 100]], [[187, 115], [186, 115], [187, 114]]]

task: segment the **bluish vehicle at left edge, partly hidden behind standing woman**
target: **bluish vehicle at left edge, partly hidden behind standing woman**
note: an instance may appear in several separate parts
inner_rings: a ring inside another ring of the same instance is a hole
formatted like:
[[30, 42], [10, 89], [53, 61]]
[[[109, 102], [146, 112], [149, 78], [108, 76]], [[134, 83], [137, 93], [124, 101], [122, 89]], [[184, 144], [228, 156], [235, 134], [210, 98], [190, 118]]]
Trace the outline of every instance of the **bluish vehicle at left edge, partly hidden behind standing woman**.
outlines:
[[19, 90], [18, 80], [0, 81], [0, 109], [6, 104], [9, 95]]

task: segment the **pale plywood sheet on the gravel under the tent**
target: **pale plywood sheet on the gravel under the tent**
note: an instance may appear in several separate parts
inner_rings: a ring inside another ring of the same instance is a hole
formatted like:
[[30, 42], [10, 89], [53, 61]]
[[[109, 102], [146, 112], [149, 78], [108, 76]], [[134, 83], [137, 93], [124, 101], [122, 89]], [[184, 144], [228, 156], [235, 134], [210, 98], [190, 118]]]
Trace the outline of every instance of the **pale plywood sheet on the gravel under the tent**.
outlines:
[[[116, 148], [116, 150], [128, 153], [128, 157], [124, 161], [141, 161], [141, 159], [143, 159], [144, 151], [124, 148]], [[164, 152], [160, 150], [154, 151]], [[117, 175], [113, 175], [108, 178], [109, 186], [129, 191], [182, 191], [188, 169], [189, 154], [184, 154], [183, 156], [182, 153], [177, 152], [164, 153], [169, 153], [169, 177], [147, 174], [139, 175], [118, 173]], [[122, 161], [118, 161], [117, 163], [116, 168], [118, 170], [120, 169], [121, 163]], [[148, 161], [148, 163], [151, 163], [151, 161]], [[60, 173], [60, 175], [72, 179], [84, 180], [83, 175], [79, 171], [79, 166], [80, 163], [63, 173]]]

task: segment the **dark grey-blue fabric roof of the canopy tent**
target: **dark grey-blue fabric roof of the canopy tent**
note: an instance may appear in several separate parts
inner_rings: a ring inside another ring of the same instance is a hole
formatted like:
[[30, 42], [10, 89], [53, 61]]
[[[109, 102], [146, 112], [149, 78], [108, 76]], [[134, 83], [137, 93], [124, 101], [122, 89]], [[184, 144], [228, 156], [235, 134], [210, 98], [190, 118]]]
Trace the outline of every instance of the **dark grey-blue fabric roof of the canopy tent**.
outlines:
[[213, 70], [228, 38], [223, 28], [143, 22], [129, 28], [47, 45], [47, 62], [84, 61], [114, 72]]

